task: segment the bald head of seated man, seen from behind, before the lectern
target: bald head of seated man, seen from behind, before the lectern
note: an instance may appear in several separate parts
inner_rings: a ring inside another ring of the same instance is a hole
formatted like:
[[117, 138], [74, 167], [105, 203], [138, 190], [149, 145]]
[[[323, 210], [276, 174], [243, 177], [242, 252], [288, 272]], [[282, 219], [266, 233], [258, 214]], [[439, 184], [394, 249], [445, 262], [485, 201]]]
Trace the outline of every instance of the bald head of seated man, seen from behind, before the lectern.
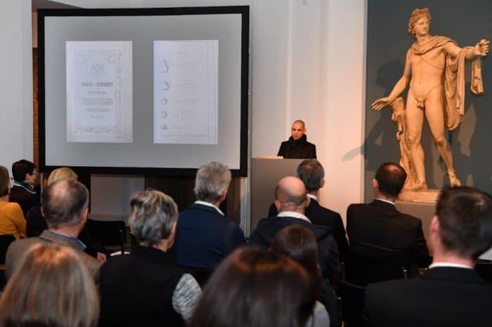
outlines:
[[304, 213], [307, 201], [306, 187], [297, 177], [282, 178], [275, 189], [275, 199], [279, 212], [302, 210]]

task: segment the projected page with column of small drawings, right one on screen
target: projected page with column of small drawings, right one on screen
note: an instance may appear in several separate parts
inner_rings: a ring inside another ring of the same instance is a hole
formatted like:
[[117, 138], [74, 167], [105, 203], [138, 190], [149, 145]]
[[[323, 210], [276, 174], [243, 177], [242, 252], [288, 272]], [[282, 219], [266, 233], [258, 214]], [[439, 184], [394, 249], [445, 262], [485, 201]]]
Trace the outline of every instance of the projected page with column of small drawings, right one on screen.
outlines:
[[217, 144], [218, 40], [154, 41], [154, 143]]

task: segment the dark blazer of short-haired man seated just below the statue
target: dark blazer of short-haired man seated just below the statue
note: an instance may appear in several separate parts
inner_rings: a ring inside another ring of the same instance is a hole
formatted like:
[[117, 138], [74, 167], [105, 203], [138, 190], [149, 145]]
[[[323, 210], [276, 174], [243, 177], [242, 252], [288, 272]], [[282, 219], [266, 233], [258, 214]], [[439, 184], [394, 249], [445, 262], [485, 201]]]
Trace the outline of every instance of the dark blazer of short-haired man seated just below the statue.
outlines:
[[347, 208], [347, 235], [351, 250], [358, 255], [371, 255], [368, 245], [410, 253], [413, 262], [429, 255], [422, 220], [380, 200]]

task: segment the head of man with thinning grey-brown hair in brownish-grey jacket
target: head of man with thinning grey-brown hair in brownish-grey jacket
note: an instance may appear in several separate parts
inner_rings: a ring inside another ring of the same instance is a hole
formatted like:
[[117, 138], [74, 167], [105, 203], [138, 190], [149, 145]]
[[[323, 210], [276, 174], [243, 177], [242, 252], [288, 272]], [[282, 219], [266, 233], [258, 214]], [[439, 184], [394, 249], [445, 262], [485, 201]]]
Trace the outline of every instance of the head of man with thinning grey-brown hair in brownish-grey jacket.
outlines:
[[43, 192], [43, 212], [48, 227], [77, 225], [89, 206], [89, 191], [77, 180], [58, 180]]

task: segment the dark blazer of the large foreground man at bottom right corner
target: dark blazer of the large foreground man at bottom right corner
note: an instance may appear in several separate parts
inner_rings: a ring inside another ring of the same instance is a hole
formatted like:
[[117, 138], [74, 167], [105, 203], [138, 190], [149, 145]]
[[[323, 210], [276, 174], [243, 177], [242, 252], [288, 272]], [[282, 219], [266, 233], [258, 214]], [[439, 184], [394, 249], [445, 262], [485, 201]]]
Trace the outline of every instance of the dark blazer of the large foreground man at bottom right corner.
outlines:
[[491, 326], [492, 286], [473, 269], [436, 267], [422, 278], [369, 284], [365, 315], [375, 327]]

